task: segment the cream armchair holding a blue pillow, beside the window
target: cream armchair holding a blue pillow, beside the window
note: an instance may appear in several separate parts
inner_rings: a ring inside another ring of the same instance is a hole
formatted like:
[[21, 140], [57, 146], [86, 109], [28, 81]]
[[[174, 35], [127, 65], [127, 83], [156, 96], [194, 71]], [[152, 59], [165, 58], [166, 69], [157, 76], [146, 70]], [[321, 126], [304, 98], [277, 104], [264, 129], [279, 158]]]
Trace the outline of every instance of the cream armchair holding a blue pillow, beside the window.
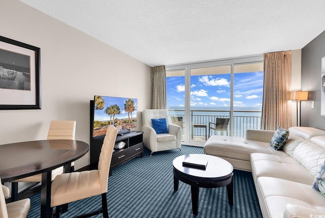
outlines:
[[[166, 118], [168, 133], [157, 134], [152, 128], [151, 119]], [[175, 124], [169, 123], [165, 109], [144, 109], [142, 112], [143, 143], [151, 151], [171, 150], [181, 147], [182, 131]]]

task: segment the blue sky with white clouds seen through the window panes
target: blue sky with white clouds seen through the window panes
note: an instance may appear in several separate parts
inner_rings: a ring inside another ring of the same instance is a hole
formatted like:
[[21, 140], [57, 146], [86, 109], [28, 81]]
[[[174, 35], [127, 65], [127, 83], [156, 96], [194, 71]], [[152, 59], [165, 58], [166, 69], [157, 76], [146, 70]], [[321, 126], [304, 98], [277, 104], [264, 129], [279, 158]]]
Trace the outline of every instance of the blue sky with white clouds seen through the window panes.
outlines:
[[[234, 74], [234, 107], [262, 108], [263, 72]], [[184, 106], [185, 77], [167, 77], [167, 106]], [[231, 74], [190, 77], [190, 105], [227, 107], [231, 104]], [[257, 109], [257, 108], [256, 108]]]

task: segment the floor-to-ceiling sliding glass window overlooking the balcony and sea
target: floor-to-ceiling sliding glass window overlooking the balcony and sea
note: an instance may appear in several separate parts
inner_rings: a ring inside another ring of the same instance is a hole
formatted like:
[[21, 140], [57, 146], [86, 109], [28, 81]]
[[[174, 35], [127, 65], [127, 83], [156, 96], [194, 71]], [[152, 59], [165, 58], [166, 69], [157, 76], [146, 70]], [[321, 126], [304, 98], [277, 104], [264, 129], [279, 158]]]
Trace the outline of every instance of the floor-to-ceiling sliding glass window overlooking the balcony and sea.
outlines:
[[[167, 109], [186, 144], [203, 145], [211, 135], [245, 137], [259, 129], [263, 56], [166, 66]], [[222, 124], [222, 125], [221, 125]]]

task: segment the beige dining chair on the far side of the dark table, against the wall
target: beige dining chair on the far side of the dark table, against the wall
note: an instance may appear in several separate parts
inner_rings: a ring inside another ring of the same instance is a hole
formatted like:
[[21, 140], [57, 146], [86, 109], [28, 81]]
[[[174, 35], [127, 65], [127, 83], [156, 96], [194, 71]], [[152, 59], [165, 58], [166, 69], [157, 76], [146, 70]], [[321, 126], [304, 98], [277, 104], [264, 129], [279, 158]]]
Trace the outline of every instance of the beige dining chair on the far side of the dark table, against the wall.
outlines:
[[[52, 120], [47, 134], [47, 140], [53, 139], [75, 139], [76, 121], [75, 120]], [[71, 163], [71, 171], [74, 171], [74, 163]], [[55, 176], [63, 173], [63, 166], [52, 170], [52, 180]], [[12, 181], [11, 183], [11, 201], [18, 200], [18, 182], [34, 182], [19, 194], [26, 192], [42, 181], [42, 174], [29, 176]]]

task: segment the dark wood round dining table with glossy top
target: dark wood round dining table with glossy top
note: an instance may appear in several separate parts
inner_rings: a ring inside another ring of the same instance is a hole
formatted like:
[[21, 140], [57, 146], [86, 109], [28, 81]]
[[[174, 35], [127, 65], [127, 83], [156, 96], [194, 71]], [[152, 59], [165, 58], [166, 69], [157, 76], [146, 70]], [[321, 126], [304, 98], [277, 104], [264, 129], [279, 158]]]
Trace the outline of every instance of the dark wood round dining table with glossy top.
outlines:
[[68, 172], [71, 162], [89, 150], [86, 142], [78, 140], [39, 140], [0, 145], [0, 178], [12, 181], [42, 173], [41, 216], [51, 214], [51, 171], [64, 166]]

